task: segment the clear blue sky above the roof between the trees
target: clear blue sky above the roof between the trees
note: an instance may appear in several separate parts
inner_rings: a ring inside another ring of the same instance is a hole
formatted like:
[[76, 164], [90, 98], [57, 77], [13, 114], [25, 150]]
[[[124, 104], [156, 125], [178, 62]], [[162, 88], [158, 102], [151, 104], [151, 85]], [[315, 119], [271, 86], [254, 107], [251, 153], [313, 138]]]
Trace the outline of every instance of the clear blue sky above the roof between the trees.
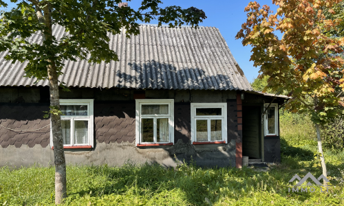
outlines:
[[[253, 0], [252, 0], [253, 1]], [[270, 8], [277, 10], [275, 5], [272, 5], [272, 0], [256, 0], [260, 5], [270, 5]], [[9, 8], [14, 4], [10, 0], [5, 0]], [[129, 1], [129, 6], [138, 8], [140, 0]], [[246, 0], [162, 0], [162, 7], [168, 5], [180, 5], [182, 8], [189, 8], [191, 6], [199, 8], [206, 12], [208, 17], [200, 25], [207, 27], [217, 27], [222, 36], [226, 40], [230, 51], [239, 63], [241, 69], [244, 70], [246, 78], [252, 82], [258, 76], [259, 68], [253, 67], [253, 62], [250, 61], [251, 47], [244, 47], [241, 45], [241, 40], [235, 40], [235, 35], [241, 29], [241, 24], [246, 21], [246, 13], [244, 8], [250, 1]], [[151, 23], [157, 23], [156, 21]]]

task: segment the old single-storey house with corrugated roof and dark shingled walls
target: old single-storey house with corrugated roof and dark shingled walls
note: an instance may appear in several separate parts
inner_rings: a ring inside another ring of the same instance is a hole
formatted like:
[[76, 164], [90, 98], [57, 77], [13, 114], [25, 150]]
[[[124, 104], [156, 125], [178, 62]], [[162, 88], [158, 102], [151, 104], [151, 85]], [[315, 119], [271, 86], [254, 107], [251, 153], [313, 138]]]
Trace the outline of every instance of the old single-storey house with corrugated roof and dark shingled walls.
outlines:
[[[65, 34], [61, 26], [54, 35]], [[66, 61], [61, 82], [67, 163], [173, 167], [280, 161], [279, 106], [286, 96], [253, 91], [215, 27], [140, 25], [109, 35], [120, 60]], [[32, 41], [40, 41], [32, 36]], [[0, 166], [51, 165], [47, 80], [24, 78], [25, 63], [0, 53]], [[270, 106], [269, 106], [270, 105]], [[269, 107], [267, 107], [269, 106]]]

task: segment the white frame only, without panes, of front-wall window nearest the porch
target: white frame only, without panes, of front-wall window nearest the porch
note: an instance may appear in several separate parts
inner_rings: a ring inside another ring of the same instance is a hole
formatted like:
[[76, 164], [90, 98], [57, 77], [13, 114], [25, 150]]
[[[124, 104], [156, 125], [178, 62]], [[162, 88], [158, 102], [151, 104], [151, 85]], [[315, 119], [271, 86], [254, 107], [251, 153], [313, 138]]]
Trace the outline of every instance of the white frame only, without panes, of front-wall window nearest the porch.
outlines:
[[[196, 116], [196, 108], [222, 108], [221, 115], [204, 115]], [[196, 120], [208, 120], [208, 141], [196, 141]], [[227, 103], [191, 103], [191, 143], [193, 142], [216, 142], [211, 141], [210, 119], [222, 119], [222, 141], [226, 141], [227, 137]]]

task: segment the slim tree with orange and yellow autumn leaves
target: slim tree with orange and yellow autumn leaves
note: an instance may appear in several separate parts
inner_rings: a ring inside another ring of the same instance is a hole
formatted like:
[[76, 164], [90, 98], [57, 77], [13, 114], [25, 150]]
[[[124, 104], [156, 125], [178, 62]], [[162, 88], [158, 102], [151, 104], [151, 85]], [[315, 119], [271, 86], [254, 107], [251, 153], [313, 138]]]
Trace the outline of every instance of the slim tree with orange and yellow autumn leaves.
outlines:
[[[286, 108], [309, 113], [316, 125], [323, 175], [327, 176], [320, 137], [320, 124], [335, 117], [335, 108], [344, 106], [338, 93], [344, 91], [344, 38], [325, 35], [341, 23], [328, 18], [342, 0], [272, 0], [279, 8], [273, 14], [268, 5], [250, 2], [247, 21], [236, 38], [252, 46], [250, 60], [260, 67], [260, 78], [268, 76], [266, 88], [274, 93], [289, 91]], [[281, 32], [278, 38], [274, 32]], [[325, 181], [324, 181], [325, 184]]]

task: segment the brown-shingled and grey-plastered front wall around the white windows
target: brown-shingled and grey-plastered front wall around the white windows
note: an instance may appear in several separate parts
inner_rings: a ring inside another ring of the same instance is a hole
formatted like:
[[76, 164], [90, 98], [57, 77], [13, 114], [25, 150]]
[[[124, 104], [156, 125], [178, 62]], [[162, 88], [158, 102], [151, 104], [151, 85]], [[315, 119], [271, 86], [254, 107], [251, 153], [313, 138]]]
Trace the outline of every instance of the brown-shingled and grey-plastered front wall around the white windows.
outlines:
[[[178, 161], [191, 157], [202, 166], [234, 166], [235, 140], [228, 144], [193, 146], [191, 138], [191, 104], [175, 104], [175, 145], [135, 145], [135, 102], [112, 102], [94, 104], [94, 148], [65, 149], [66, 163], [94, 165], [122, 165], [133, 163], [160, 163], [174, 167]], [[14, 129], [35, 129], [50, 123], [42, 119], [48, 104], [4, 104], [0, 105], [0, 121], [3, 126]], [[233, 114], [230, 114], [233, 115]], [[14, 133], [0, 128], [0, 166], [29, 166], [34, 163], [52, 165], [53, 150], [50, 149], [50, 126], [39, 132]]]

